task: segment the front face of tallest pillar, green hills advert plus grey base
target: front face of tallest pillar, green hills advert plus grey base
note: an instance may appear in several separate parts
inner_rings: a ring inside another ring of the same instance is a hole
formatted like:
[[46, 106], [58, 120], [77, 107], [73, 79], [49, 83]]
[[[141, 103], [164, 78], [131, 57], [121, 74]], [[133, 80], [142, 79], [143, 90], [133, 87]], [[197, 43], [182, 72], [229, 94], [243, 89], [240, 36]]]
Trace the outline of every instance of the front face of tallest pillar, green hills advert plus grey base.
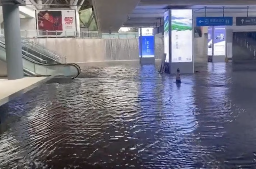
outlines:
[[169, 13], [170, 73], [194, 73], [194, 27], [192, 9], [173, 9]]

